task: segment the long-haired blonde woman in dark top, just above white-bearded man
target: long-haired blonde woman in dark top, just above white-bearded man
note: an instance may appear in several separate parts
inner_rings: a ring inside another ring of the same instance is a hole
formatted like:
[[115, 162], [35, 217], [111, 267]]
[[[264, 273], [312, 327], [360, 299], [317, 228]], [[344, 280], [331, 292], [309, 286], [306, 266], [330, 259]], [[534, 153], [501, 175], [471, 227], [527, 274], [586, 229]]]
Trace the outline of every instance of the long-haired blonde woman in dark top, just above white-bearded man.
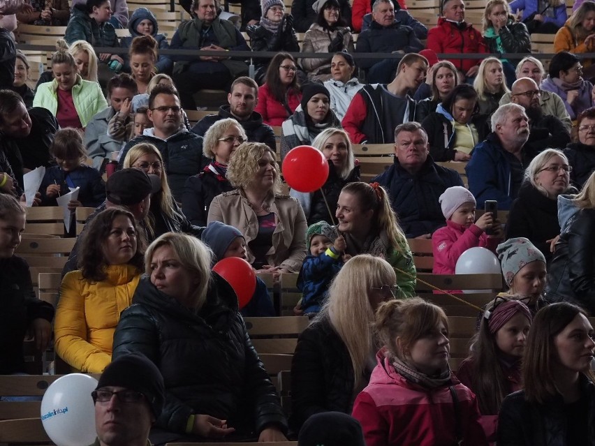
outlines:
[[495, 57], [483, 59], [473, 81], [477, 91], [479, 113], [490, 116], [499, 106], [500, 99], [508, 93], [502, 62]]

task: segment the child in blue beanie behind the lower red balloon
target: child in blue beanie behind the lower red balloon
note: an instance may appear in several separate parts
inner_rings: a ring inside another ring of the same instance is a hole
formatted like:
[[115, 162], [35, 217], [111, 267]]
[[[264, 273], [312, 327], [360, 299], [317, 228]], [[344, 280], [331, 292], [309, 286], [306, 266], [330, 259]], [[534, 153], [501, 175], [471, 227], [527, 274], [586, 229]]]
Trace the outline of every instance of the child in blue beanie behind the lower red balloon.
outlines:
[[[213, 265], [228, 257], [246, 260], [246, 241], [242, 232], [220, 221], [212, 221], [200, 239], [213, 251]], [[244, 317], [275, 316], [274, 307], [267, 292], [267, 285], [256, 277], [256, 290], [250, 302], [240, 310]]]

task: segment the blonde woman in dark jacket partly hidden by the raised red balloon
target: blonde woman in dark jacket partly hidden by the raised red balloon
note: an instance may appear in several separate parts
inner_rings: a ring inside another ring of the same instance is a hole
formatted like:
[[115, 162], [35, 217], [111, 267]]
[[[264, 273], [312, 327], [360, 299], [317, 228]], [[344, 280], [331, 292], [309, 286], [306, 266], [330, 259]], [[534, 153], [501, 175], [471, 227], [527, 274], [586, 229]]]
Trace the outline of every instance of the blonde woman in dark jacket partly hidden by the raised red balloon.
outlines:
[[[343, 186], [360, 181], [360, 168], [355, 166], [349, 136], [341, 128], [326, 128], [314, 138], [312, 146], [320, 150], [328, 160], [328, 179], [316, 192], [303, 193], [292, 189], [289, 195], [297, 198], [302, 205], [308, 225], [322, 220], [333, 224], [329, 209], [332, 212], [337, 209], [337, 200]], [[325, 205], [323, 193], [329, 209]]]

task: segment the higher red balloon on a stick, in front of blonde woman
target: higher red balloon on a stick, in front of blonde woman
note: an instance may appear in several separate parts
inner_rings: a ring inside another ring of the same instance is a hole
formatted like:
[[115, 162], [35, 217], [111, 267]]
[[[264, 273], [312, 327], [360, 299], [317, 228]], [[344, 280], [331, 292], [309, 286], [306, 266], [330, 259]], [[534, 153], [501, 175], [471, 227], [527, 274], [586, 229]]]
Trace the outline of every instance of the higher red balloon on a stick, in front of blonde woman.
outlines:
[[328, 179], [328, 161], [312, 146], [291, 149], [283, 160], [283, 177], [298, 192], [314, 192]]

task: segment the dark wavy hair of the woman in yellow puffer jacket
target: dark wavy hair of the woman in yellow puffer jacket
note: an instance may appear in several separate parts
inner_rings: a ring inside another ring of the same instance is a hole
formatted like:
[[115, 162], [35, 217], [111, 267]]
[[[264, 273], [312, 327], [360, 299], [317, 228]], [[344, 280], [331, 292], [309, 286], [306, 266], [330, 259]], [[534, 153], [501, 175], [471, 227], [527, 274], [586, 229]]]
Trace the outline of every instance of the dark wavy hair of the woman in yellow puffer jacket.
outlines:
[[82, 233], [80, 240], [79, 258], [77, 267], [80, 269], [83, 278], [88, 281], [101, 282], [105, 280], [105, 268], [109, 266], [105, 258], [103, 247], [112, 230], [112, 223], [118, 216], [125, 216], [131, 221], [136, 234], [136, 252], [128, 265], [133, 265], [142, 271], [143, 258], [145, 254], [145, 236], [139, 230], [134, 216], [122, 207], [111, 207], [101, 211], [91, 220], [89, 227]]

